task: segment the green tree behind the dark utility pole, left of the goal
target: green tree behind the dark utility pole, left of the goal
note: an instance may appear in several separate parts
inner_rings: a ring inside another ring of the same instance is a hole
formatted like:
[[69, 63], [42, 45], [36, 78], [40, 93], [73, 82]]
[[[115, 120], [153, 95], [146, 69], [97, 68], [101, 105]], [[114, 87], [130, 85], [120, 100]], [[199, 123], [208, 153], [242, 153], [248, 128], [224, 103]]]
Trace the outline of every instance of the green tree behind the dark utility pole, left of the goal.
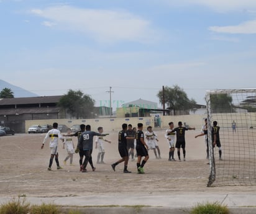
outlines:
[[[196, 101], [188, 99], [186, 92], [177, 85], [173, 87], [165, 86], [164, 94], [165, 104], [168, 106], [167, 109], [173, 110], [174, 115], [176, 115], [177, 110], [193, 109], [196, 105]], [[157, 97], [160, 103], [163, 104], [163, 90], [158, 92]]]

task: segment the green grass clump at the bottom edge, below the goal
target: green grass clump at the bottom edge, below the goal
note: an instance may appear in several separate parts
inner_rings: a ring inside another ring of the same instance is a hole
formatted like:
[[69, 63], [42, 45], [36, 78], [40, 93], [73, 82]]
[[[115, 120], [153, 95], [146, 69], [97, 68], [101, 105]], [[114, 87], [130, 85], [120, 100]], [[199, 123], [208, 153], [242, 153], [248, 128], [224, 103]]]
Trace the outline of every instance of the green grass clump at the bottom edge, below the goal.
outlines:
[[214, 203], [198, 203], [196, 207], [191, 209], [190, 214], [229, 214], [229, 209], [226, 205], [221, 205], [219, 202]]

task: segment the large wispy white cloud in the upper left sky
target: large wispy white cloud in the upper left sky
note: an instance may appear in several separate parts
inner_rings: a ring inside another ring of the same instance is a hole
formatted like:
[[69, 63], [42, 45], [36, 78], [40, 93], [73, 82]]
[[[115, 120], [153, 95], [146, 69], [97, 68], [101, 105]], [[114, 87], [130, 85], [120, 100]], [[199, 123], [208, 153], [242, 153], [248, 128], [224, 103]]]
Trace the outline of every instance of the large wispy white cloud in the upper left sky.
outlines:
[[124, 11], [55, 6], [30, 12], [47, 19], [44, 23], [55, 23], [60, 29], [79, 31], [105, 42], [151, 42], [158, 37], [158, 32], [151, 29], [149, 20]]

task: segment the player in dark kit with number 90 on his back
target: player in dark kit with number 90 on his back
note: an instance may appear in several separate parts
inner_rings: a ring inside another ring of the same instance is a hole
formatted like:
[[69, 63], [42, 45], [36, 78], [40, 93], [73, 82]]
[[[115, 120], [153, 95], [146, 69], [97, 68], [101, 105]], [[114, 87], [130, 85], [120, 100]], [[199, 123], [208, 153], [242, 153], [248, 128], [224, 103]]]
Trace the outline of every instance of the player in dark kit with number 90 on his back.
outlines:
[[[107, 134], [100, 134], [97, 132], [91, 131], [91, 126], [86, 125], [85, 132], [83, 132], [78, 140], [77, 148], [82, 148], [83, 156], [85, 156], [85, 161], [83, 162], [82, 172], [88, 172], [86, 166], [91, 159], [91, 153], [93, 151], [93, 136], [106, 136]], [[95, 167], [93, 167], [94, 169]], [[94, 171], [94, 170], [93, 170]]]

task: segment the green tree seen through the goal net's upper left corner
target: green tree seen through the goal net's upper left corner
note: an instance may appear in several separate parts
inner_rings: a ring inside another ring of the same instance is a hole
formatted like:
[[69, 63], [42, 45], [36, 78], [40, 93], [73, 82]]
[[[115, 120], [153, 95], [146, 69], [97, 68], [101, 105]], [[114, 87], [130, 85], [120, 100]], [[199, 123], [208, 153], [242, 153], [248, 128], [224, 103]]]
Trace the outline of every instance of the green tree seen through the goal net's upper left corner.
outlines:
[[235, 112], [232, 104], [232, 96], [230, 94], [211, 94], [212, 113], [231, 113]]

